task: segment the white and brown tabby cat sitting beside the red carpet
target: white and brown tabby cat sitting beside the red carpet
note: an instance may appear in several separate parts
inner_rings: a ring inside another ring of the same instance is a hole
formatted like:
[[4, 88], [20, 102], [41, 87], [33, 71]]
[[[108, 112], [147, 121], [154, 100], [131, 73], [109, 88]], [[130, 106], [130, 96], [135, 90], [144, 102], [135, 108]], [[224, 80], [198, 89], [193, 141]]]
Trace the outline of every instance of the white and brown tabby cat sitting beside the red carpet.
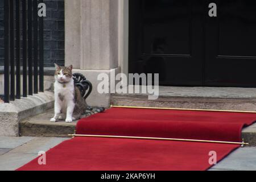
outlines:
[[104, 111], [103, 107], [86, 111], [88, 105], [82, 97], [80, 89], [74, 83], [72, 65], [69, 67], [61, 67], [55, 64], [55, 68], [55, 115], [51, 118], [51, 122], [65, 120], [65, 122], [69, 123], [87, 117], [88, 115]]

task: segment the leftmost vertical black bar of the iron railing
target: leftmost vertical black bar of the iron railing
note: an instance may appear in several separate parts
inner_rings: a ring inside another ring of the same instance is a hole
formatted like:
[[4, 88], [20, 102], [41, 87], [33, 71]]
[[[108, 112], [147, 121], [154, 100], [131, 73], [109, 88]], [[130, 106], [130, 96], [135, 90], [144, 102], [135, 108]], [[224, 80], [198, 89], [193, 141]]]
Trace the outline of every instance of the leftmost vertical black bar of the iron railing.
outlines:
[[5, 0], [5, 102], [10, 102], [10, 1]]

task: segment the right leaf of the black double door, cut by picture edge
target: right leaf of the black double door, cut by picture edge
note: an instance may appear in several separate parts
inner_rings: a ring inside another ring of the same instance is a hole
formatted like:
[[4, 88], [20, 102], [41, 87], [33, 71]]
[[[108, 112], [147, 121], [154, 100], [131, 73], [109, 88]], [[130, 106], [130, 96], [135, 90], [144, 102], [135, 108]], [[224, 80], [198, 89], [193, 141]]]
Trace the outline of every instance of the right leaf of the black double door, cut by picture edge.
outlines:
[[205, 85], [255, 87], [256, 2], [215, 1], [217, 18], [207, 18]]

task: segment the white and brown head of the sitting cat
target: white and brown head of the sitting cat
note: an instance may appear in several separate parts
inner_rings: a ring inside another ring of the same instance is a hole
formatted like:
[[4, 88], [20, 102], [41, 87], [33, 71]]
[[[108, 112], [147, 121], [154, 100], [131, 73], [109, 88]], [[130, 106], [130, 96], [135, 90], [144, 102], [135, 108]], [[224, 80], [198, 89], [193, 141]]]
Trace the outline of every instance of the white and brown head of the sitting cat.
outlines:
[[72, 65], [70, 65], [69, 67], [60, 67], [59, 65], [55, 64], [55, 68], [56, 81], [59, 81], [60, 83], [65, 83], [72, 80]]

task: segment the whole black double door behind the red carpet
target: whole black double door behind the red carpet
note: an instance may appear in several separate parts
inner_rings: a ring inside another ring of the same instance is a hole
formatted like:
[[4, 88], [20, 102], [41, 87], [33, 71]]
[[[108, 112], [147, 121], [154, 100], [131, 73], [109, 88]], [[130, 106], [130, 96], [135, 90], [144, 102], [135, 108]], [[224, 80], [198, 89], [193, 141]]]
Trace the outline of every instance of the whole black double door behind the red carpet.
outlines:
[[160, 85], [256, 87], [256, 2], [130, 0], [129, 9], [129, 73], [159, 73]]

